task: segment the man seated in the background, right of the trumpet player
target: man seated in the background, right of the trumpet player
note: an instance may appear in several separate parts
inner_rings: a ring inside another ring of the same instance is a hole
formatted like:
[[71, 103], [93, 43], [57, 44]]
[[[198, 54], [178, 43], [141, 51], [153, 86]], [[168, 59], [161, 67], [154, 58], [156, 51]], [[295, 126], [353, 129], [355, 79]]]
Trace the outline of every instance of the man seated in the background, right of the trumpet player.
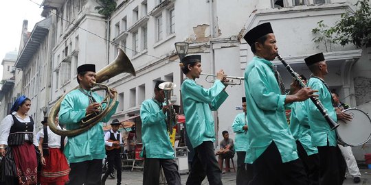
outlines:
[[223, 140], [221, 140], [220, 147], [221, 149], [216, 152], [216, 155], [219, 155], [218, 163], [221, 171], [223, 171], [223, 160], [225, 160], [225, 169], [229, 171], [229, 159], [234, 157], [234, 145], [233, 140], [229, 138], [228, 131], [223, 131]]

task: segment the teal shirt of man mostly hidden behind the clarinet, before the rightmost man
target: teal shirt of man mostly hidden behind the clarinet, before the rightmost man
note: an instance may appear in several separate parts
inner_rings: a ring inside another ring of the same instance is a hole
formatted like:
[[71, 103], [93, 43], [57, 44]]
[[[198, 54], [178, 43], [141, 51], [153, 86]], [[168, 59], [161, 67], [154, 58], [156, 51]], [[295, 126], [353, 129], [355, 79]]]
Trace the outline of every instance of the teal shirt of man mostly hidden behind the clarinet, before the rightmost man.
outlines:
[[317, 147], [312, 146], [311, 127], [309, 127], [308, 114], [306, 105], [311, 99], [306, 101], [297, 101], [292, 103], [290, 116], [290, 131], [295, 140], [302, 143], [303, 148], [308, 156], [318, 153]]

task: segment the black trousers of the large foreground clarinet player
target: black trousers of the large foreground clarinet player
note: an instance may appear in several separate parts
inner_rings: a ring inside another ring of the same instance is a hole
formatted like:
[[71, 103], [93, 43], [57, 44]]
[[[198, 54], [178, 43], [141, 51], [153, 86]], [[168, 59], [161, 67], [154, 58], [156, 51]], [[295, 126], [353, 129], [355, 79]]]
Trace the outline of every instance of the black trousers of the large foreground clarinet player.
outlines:
[[300, 159], [282, 162], [280, 152], [274, 142], [253, 163], [254, 177], [249, 185], [300, 185], [308, 184]]

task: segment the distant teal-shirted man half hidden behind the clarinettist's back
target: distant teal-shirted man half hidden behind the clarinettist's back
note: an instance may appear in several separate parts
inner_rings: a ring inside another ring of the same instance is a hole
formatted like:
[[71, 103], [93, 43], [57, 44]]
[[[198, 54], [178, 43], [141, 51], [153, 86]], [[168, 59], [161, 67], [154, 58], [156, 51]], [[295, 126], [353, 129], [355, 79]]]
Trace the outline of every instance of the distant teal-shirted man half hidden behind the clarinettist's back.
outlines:
[[246, 97], [242, 97], [243, 112], [237, 114], [232, 124], [233, 132], [236, 133], [234, 138], [234, 147], [237, 153], [237, 173], [236, 184], [249, 184], [253, 177], [251, 164], [245, 163], [246, 151], [249, 148], [249, 133], [246, 116]]

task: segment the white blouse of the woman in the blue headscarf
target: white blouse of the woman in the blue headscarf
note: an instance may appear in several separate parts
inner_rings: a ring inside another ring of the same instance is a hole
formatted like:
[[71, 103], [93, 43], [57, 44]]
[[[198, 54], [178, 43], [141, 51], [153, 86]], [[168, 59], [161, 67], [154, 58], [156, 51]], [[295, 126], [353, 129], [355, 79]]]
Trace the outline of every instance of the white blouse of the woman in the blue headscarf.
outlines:
[[[14, 115], [16, 117], [16, 119], [18, 119], [18, 121], [21, 122], [21, 123], [30, 123], [30, 121], [31, 121], [30, 116], [25, 116], [25, 119], [23, 119], [21, 116], [16, 114], [15, 111], [12, 112], [12, 115]], [[1, 123], [0, 123], [0, 145], [8, 145], [8, 137], [9, 137], [9, 133], [10, 133], [10, 128], [14, 125], [12, 115], [8, 114], [7, 116], [5, 116], [3, 121], [1, 121]], [[34, 129], [33, 133], [34, 133], [34, 138], [32, 140], [32, 143], [34, 143], [34, 145], [37, 147], [38, 143], [37, 143], [37, 139], [36, 139], [35, 129]], [[27, 134], [25, 134], [25, 140], [30, 140], [28, 138]]]

